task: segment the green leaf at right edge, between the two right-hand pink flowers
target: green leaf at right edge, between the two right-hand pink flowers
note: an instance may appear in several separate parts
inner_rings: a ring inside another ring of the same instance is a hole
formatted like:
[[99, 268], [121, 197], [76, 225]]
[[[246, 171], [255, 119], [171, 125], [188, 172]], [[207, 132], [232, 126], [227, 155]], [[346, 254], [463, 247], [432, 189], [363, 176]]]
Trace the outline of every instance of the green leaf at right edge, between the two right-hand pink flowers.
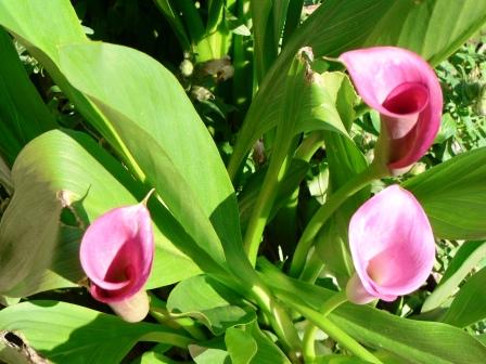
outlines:
[[424, 208], [434, 234], [446, 239], [486, 237], [486, 147], [458, 155], [402, 185]]

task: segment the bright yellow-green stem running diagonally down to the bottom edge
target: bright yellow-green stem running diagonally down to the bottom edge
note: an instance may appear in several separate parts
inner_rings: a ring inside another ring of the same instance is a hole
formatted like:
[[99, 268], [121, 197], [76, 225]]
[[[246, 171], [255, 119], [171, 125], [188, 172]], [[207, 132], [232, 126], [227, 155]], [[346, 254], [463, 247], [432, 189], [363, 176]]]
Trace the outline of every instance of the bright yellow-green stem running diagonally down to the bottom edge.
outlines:
[[324, 317], [320, 312], [309, 309], [308, 307], [299, 304], [293, 300], [285, 301], [285, 303], [292, 307], [294, 310], [298, 311], [304, 317], [312, 322], [317, 327], [319, 327], [321, 330], [323, 330], [356, 356], [371, 363], [383, 364], [376, 356], [374, 356], [353, 337], [350, 337], [340, 327], [333, 324], [329, 318]]

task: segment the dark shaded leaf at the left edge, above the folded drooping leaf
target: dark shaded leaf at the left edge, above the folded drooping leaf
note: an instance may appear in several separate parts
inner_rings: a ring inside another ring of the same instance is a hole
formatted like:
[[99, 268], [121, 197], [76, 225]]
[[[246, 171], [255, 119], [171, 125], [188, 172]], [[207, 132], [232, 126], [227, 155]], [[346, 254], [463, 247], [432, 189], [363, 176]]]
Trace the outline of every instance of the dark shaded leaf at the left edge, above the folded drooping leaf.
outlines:
[[12, 166], [30, 140], [55, 128], [29, 80], [9, 34], [0, 28], [0, 153]]

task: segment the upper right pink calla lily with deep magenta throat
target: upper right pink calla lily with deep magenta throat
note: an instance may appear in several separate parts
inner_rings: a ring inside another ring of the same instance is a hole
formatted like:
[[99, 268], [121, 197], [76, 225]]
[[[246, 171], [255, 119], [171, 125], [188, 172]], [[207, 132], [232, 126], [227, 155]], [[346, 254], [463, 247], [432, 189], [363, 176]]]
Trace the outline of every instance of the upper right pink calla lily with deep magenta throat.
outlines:
[[440, 126], [443, 93], [434, 70], [418, 54], [395, 47], [349, 51], [340, 60], [362, 100], [381, 114], [375, 162], [393, 174], [407, 171]]

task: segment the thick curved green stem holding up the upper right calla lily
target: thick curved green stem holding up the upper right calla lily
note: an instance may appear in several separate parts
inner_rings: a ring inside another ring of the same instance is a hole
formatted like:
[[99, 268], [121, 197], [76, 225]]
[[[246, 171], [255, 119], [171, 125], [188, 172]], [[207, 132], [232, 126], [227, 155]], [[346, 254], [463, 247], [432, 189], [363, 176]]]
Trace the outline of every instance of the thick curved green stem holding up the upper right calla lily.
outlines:
[[328, 221], [328, 219], [337, 210], [337, 208], [348, 197], [353, 196], [355, 193], [363, 188], [371, 181], [384, 176], [386, 176], [386, 173], [384, 172], [383, 167], [372, 164], [361, 173], [356, 174], [353, 179], [350, 179], [333, 195], [331, 195], [325, 204], [322, 205], [319, 210], [317, 210], [297, 243], [297, 248], [295, 249], [290, 269], [291, 276], [299, 276], [306, 263], [307, 253], [312, 246], [314, 238], [316, 237], [319, 230]]

